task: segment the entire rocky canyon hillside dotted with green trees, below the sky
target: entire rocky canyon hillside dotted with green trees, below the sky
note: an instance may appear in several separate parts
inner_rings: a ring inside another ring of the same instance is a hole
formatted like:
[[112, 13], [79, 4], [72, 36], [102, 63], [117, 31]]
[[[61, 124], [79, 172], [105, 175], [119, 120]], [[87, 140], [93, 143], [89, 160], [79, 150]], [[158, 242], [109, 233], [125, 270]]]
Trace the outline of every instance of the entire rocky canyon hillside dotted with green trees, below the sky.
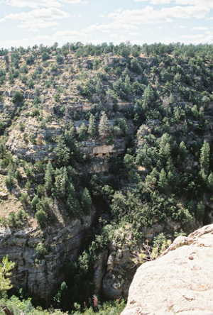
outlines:
[[0, 53], [0, 261], [48, 302], [119, 299], [143, 242], [213, 222], [212, 46], [68, 46]]

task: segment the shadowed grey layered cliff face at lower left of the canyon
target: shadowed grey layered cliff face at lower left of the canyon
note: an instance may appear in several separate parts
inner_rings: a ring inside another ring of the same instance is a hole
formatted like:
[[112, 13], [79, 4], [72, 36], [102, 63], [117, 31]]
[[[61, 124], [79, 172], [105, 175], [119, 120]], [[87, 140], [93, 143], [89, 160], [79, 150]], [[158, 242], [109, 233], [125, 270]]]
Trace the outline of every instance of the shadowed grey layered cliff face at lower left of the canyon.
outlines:
[[[11, 283], [51, 302], [53, 288], [63, 280], [65, 261], [77, 260], [84, 233], [92, 225], [94, 212], [61, 228], [25, 228], [21, 231], [0, 228], [0, 260], [9, 255], [15, 262]], [[45, 251], [38, 250], [45, 248]]]

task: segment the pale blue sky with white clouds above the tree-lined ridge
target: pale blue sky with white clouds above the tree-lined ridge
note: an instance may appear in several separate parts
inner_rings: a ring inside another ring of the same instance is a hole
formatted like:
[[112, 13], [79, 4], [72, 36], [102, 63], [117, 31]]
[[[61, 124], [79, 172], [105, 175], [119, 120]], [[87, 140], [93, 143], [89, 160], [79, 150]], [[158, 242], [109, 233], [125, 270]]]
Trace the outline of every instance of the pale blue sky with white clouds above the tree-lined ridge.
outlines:
[[213, 0], [0, 0], [0, 48], [213, 43]]

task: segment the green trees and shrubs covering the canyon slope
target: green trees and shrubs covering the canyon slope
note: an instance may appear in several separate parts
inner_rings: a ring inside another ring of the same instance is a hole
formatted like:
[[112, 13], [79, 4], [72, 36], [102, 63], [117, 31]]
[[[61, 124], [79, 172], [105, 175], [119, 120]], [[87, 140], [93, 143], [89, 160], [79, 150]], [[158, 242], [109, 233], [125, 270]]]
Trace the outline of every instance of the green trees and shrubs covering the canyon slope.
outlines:
[[[93, 296], [94, 260], [109, 243], [133, 251], [144, 227], [176, 221], [178, 231], [165, 231], [173, 238], [211, 221], [212, 45], [55, 43], [0, 56], [1, 186], [21, 202], [1, 224], [21, 228], [30, 216], [45, 229], [58, 211], [69, 223], [99, 210], [55, 306]], [[27, 157], [12, 141], [46, 153]], [[123, 150], [102, 156], [109, 168], [91, 170], [99, 159], [87, 148], [118, 143]]]

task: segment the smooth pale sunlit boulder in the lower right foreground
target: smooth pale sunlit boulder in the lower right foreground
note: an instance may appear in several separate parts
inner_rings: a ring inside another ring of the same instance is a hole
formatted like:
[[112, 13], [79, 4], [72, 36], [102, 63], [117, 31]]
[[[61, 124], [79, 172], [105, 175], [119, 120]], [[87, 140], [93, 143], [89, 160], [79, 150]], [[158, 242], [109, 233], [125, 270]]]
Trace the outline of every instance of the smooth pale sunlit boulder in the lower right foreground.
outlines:
[[121, 315], [213, 315], [212, 261], [213, 224], [179, 236], [158, 260], [138, 268]]

